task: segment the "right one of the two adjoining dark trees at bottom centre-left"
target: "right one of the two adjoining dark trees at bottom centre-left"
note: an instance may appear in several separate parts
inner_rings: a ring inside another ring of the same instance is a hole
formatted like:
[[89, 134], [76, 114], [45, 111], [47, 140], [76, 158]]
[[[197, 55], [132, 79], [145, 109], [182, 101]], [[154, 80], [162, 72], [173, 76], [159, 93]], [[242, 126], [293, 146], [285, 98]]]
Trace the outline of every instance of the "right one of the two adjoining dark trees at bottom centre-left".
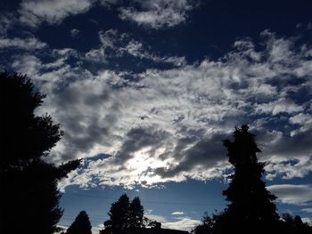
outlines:
[[135, 197], [130, 203], [128, 226], [129, 228], [144, 227], [144, 207], [141, 205], [139, 197]]

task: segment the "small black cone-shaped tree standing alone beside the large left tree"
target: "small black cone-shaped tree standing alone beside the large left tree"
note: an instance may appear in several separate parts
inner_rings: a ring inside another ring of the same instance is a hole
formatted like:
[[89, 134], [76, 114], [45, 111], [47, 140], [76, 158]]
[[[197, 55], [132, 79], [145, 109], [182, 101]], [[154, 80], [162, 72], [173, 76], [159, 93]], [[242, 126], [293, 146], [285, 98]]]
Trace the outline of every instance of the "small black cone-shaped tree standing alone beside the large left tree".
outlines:
[[66, 234], [92, 234], [92, 226], [86, 211], [81, 211], [75, 221], [71, 223]]

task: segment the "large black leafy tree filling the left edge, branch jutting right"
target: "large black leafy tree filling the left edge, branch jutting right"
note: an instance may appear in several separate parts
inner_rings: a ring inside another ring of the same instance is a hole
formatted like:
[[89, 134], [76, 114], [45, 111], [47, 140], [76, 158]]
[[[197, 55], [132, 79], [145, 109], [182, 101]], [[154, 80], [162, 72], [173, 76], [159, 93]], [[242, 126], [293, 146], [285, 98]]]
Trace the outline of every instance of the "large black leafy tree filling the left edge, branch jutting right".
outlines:
[[62, 209], [57, 182], [79, 165], [78, 160], [59, 166], [45, 162], [62, 132], [47, 114], [35, 116], [44, 97], [28, 77], [0, 73], [1, 233], [58, 230]]

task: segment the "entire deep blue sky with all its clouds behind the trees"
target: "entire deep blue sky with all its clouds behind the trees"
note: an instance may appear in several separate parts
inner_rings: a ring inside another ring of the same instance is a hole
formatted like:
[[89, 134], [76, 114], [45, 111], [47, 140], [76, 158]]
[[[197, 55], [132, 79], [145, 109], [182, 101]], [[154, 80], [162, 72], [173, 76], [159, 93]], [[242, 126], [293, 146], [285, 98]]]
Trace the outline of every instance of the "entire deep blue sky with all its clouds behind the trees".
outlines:
[[2, 0], [0, 69], [45, 93], [61, 125], [46, 160], [83, 158], [60, 182], [61, 226], [139, 196], [162, 227], [226, 207], [222, 141], [250, 125], [278, 213], [312, 221], [312, 3], [308, 0]]

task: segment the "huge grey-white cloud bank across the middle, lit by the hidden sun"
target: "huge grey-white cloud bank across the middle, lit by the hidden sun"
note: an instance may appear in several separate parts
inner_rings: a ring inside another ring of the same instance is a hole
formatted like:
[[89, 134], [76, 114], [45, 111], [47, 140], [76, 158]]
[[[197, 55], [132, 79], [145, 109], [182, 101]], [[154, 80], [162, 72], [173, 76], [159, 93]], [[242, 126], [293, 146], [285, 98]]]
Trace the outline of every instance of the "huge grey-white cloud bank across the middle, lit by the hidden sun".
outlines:
[[[86, 55], [69, 48], [54, 50], [49, 62], [40, 54], [15, 56], [12, 69], [29, 74], [47, 94], [37, 113], [51, 114], [65, 132], [50, 159], [85, 158], [62, 187], [150, 188], [222, 178], [230, 166], [222, 140], [242, 123], [258, 135], [267, 178], [302, 177], [312, 171], [310, 45], [295, 50], [293, 38], [268, 31], [262, 40], [259, 51], [250, 38], [241, 38], [218, 61], [168, 69], [152, 64], [139, 73], [103, 66], [91, 72], [83, 65]], [[101, 31], [99, 43], [94, 54], [100, 50], [103, 61], [110, 60], [107, 50], [137, 61], [162, 58], [115, 29]], [[290, 50], [290, 57], [276, 59], [276, 46]], [[110, 157], [97, 157], [103, 154]]]

